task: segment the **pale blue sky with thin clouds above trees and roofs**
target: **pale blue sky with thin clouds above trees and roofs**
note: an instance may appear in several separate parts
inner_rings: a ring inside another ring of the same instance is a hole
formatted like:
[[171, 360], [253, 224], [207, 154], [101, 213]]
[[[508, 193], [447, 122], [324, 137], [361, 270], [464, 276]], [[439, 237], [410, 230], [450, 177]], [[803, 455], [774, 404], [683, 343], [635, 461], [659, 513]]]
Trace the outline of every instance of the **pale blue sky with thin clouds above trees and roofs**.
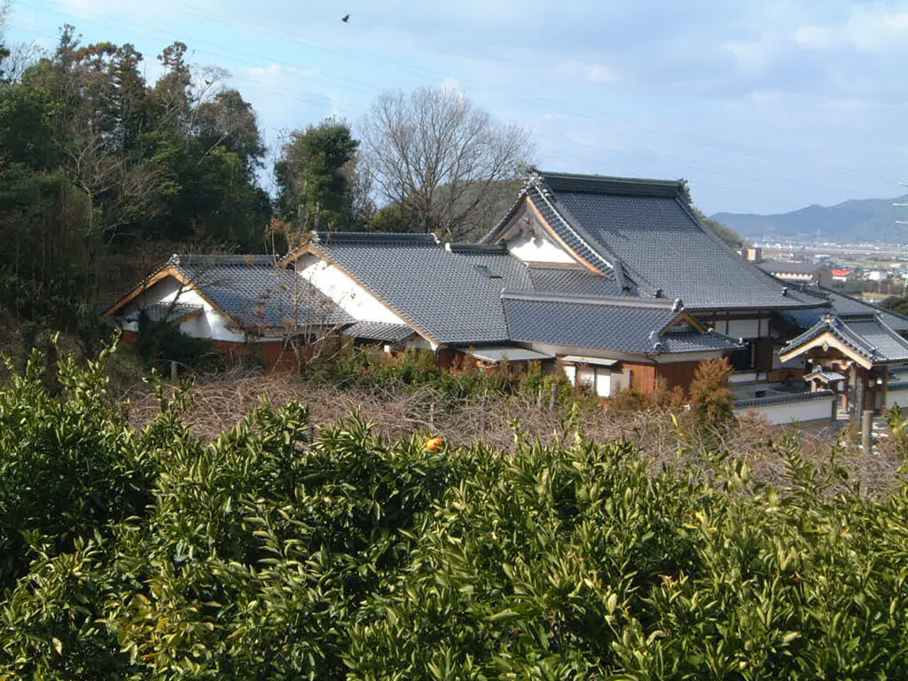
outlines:
[[[343, 24], [341, 16], [350, 14]], [[706, 212], [887, 197], [908, 180], [908, 0], [12, 0], [7, 43], [174, 40], [273, 144], [377, 94], [459, 87], [540, 168], [686, 177]]]

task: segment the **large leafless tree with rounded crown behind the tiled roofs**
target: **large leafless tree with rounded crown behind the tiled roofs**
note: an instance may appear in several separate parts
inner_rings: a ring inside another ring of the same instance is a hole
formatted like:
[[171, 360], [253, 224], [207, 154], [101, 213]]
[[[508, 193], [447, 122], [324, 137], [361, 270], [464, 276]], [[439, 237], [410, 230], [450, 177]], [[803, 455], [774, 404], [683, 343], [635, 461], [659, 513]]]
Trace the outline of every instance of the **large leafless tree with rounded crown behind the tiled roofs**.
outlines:
[[410, 230], [459, 239], [488, 227], [488, 207], [532, 152], [528, 133], [498, 125], [449, 88], [385, 93], [362, 123], [375, 188]]

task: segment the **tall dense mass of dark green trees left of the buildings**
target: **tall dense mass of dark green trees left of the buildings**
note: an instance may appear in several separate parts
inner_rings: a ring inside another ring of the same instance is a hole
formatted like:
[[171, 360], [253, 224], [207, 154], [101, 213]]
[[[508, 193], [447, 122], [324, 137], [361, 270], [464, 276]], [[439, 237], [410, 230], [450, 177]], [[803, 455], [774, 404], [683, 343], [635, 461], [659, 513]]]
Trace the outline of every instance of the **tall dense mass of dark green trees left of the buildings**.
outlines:
[[148, 83], [132, 44], [83, 44], [67, 25], [53, 54], [0, 79], [7, 311], [72, 327], [112, 283], [146, 273], [121, 280], [115, 262], [149, 242], [262, 250], [271, 200], [255, 113], [186, 52], [165, 47]]

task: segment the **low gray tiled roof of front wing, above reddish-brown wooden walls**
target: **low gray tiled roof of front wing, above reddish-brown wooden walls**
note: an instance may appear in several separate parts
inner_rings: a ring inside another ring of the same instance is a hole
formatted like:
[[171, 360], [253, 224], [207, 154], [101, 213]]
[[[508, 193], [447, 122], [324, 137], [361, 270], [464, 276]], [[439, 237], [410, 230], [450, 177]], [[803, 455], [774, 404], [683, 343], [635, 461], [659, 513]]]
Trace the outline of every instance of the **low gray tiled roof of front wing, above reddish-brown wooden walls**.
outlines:
[[503, 295], [511, 339], [597, 350], [702, 352], [737, 350], [722, 334], [666, 331], [677, 311], [668, 303], [630, 298], [564, 298], [518, 291]]

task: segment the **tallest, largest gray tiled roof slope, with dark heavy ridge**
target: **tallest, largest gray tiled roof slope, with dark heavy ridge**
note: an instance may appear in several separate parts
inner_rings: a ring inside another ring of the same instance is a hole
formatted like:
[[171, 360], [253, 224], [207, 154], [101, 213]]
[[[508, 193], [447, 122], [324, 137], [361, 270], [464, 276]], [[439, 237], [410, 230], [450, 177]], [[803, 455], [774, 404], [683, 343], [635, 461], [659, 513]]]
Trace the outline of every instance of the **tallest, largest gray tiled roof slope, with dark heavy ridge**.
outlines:
[[616, 277], [625, 273], [644, 292], [681, 298], [688, 310], [818, 304], [705, 232], [681, 199], [682, 188], [678, 182], [542, 173], [524, 192], [582, 258], [614, 265]]

